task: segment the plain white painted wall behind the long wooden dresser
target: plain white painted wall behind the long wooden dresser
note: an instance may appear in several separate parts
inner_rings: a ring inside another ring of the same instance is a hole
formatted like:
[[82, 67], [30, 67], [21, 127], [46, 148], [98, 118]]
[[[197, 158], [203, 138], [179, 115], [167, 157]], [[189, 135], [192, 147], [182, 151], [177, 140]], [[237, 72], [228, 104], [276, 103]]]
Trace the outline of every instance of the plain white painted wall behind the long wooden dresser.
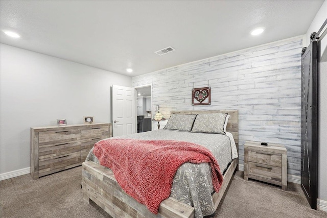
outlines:
[[1, 51], [0, 173], [30, 167], [30, 128], [56, 119], [82, 124], [83, 116], [111, 122], [110, 86], [131, 87], [131, 78], [18, 49]]

